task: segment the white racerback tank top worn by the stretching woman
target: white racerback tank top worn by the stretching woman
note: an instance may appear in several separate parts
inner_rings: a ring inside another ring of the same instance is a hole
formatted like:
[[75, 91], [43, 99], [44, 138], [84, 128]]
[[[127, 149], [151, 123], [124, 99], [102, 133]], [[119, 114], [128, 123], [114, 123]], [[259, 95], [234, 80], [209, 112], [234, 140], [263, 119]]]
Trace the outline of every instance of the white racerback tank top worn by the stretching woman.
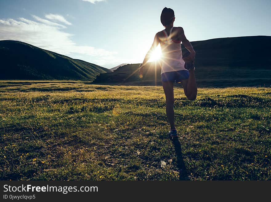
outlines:
[[[161, 43], [162, 52], [162, 68], [161, 74], [165, 72], [174, 72], [179, 70], [187, 70], [184, 68], [184, 60], [182, 57], [181, 41], [172, 41], [172, 29], [169, 36], [165, 30], [163, 33], [166, 37], [166, 41]], [[188, 71], [188, 70], [187, 70]]]

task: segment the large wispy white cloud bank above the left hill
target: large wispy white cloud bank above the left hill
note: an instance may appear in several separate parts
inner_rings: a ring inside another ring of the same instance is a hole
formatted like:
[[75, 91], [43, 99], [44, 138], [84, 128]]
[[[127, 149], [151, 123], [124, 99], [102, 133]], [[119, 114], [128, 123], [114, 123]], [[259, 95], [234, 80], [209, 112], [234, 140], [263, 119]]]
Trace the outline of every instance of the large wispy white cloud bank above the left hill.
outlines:
[[108, 66], [112, 62], [122, 61], [115, 57], [117, 52], [92, 46], [78, 46], [71, 40], [73, 34], [63, 31], [58, 23], [33, 16], [36, 21], [26, 18], [0, 19], [0, 40], [22, 41], [42, 49], [51, 50], [67, 56], [78, 55], [91, 63]]

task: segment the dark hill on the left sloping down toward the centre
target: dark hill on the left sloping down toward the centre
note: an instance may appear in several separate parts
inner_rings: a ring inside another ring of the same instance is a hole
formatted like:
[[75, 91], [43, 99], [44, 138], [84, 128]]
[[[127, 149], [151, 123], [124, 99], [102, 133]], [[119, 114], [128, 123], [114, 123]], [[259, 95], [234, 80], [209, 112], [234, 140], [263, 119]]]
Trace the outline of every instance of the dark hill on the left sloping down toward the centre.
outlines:
[[18, 41], [0, 41], [0, 79], [92, 81], [109, 69]]

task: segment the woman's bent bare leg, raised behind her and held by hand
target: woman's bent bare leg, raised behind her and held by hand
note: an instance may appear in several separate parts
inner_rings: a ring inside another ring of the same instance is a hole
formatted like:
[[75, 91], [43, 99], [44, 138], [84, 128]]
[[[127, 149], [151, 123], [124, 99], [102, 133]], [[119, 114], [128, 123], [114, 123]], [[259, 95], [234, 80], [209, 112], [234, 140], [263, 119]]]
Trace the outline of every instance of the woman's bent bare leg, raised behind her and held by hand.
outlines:
[[188, 100], [195, 100], [197, 97], [197, 84], [194, 70], [189, 70], [189, 78], [182, 80], [184, 94]]

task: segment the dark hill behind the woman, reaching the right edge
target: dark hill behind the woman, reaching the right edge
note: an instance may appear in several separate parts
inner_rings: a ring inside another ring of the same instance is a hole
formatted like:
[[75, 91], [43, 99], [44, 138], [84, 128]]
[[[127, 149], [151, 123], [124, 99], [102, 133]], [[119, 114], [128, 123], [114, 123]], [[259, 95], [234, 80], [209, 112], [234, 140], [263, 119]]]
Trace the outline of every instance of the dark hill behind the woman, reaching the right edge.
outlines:
[[[191, 42], [196, 51], [199, 87], [270, 86], [271, 36], [216, 38]], [[182, 46], [183, 55], [188, 51]], [[161, 85], [161, 63], [150, 62], [143, 79], [139, 64], [128, 64], [97, 76], [95, 84]]]

